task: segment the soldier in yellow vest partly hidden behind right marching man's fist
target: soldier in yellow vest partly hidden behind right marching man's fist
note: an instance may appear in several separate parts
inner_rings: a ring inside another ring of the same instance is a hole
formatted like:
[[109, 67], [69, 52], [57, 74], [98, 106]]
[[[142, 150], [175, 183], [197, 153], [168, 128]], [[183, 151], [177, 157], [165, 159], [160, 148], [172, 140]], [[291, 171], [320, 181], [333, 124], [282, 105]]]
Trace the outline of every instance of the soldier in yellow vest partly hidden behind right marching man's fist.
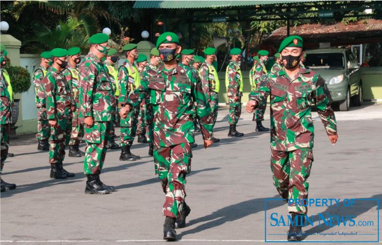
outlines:
[[[267, 76], [265, 65], [268, 62], [269, 52], [267, 50], [260, 50], [258, 55], [259, 60], [250, 71], [250, 83], [252, 91], [256, 91], [257, 87], [260, 85], [261, 80], [265, 79]], [[252, 121], [256, 122], [256, 131], [269, 131], [269, 128], [264, 127], [261, 122], [264, 120], [265, 108], [266, 100], [262, 101], [262, 104], [256, 108], [256, 111], [253, 114]]]

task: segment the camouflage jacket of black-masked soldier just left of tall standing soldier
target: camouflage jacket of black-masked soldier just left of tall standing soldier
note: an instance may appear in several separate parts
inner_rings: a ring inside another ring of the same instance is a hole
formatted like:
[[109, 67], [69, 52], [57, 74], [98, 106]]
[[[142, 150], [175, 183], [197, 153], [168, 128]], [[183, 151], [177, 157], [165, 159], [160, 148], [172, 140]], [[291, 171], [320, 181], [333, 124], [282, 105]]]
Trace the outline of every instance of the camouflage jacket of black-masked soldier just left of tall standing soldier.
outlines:
[[51, 67], [43, 79], [46, 84], [46, 114], [48, 119], [72, 118], [72, 106], [75, 105], [66, 77]]

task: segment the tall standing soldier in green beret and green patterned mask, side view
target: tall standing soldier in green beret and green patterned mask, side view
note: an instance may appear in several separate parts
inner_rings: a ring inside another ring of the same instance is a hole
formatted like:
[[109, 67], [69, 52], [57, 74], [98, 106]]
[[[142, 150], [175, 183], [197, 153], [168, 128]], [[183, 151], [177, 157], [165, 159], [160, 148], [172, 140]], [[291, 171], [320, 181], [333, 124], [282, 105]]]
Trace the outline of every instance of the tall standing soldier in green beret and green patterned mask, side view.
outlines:
[[79, 66], [79, 105], [81, 122], [85, 123], [84, 173], [86, 194], [108, 194], [114, 186], [104, 184], [99, 175], [105, 161], [110, 130], [115, 118], [115, 92], [107, 68], [101, 59], [110, 45], [106, 34], [98, 33], [89, 38], [90, 51]]

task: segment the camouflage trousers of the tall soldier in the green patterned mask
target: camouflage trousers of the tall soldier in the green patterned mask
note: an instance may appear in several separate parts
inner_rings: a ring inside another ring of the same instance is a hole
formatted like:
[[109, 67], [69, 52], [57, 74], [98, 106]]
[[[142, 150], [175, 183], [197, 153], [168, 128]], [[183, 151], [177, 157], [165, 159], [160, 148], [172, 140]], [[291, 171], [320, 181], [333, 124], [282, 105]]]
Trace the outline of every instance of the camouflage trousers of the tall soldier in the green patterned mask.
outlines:
[[110, 130], [113, 121], [94, 122], [92, 127], [85, 126], [85, 150], [84, 173], [100, 173], [105, 161], [106, 150], [111, 140]]

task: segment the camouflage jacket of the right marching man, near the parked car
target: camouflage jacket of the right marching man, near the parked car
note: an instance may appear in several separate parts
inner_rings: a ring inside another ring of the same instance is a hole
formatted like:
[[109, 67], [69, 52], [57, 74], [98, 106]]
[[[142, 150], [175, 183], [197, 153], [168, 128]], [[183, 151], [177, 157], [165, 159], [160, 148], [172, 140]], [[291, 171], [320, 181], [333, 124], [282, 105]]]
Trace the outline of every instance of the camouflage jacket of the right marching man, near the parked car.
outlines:
[[325, 89], [324, 80], [314, 71], [301, 68], [296, 77], [290, 78], [282, 69], [278, 74], [271, 73], [257, 91], [250, 93], [249, 98], [258, 102], [270, 95], [272, 150], [293, 151], [313, 147], [312, 99], [326, 133], [336, 134], [336, 118]]

